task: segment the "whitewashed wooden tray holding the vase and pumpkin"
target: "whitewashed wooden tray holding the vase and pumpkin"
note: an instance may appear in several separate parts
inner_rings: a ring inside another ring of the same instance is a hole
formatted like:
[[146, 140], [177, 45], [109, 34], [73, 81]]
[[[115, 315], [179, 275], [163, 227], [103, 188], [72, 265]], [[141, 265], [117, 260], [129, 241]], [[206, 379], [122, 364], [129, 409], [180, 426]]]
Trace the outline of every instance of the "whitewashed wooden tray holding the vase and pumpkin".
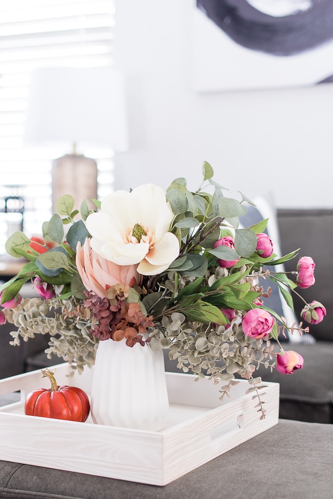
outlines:
[[[91, 371], [69, 378], [68, 364], [56, 368], [58, 385], [88, 394]], [[53, 368], [51, 368], [53, 369]], [[278, 422], [279, 384], [260, 392], [266, 418], [245, 395], [242, 380], [220, 402], [219, 385], [195, 376], [166, 373], [170, 402], [166, 427], [147, 432], [24, 415], [26, 395], [49, 388], [40, 370], [0, 380], [0, 395], [20, 391], [20, 401], [0, 407], [0, 459], [151, 485], [166, 485], [185, 473], [264, 432]], [[263, 394], [265, 392], [265, 394]]]

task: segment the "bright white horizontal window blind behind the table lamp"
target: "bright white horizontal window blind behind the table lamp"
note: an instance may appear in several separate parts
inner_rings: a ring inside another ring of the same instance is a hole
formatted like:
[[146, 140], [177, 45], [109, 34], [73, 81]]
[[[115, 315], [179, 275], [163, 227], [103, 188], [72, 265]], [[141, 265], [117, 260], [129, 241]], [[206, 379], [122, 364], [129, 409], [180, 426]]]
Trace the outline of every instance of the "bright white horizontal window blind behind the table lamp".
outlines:
[[[11, 0], [0, 3], [0, 253], [21, 224], [40, 233], [51, 215], [52, 161], [71, 151], [23, 144], [30, 72], [37, 67], [113, 64], [114, 0]], [[94, 151], [99, 196], [113, 184], [112, 158]], [[97, 154], [96, 154], [97, 153]], [[11, 198], [11, 209], [5, 198]], [[15, 198], [18, 198], [15, 199]], [[16, 204], [15, 204], [16, 203]], [[7, 213], [4, 213], [7, 212]]]

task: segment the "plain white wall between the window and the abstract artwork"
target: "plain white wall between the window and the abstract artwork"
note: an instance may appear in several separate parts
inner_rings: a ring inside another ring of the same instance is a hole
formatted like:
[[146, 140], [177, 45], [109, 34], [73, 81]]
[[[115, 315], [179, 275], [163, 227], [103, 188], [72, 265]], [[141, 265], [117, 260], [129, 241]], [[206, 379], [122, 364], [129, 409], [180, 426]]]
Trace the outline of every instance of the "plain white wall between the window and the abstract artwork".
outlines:
[[[215, 180], [277, 207], [333, 208], [333, 85], [198, 94], [191, 86], [193, 0], [117, 0], [116, 64], [127, 81], [130, 150], [116, 188]], [[233, 191], [231, 194], [235, 194]]]

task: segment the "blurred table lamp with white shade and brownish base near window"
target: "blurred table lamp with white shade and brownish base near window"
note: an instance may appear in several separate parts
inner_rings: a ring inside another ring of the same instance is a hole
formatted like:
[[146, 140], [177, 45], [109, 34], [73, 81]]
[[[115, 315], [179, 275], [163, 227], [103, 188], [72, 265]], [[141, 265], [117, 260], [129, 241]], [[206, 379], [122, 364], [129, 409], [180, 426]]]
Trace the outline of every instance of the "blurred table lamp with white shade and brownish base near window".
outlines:
[[[55, 201], [71, 194], [80, 209], [97, 198], [97, 164], [77, 151], [103, 148], [111, 155], [128, 148], [125, 90], [114, 67], [35, 69], [31, 73], [24, 132], [26, 144], [70, 151], [52, 164]], [[92, 209], [95, 206], [92, 204]]]

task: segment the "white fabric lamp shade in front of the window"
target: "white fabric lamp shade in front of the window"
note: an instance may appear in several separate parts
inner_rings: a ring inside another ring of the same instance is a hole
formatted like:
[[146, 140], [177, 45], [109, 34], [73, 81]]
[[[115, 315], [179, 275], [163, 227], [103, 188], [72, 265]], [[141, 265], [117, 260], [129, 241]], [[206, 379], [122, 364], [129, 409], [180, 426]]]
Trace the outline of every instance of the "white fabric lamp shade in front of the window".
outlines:
[[114, 67], [33, 70], [24, 141], [126, 151], [127, 116], [120, 71]]

